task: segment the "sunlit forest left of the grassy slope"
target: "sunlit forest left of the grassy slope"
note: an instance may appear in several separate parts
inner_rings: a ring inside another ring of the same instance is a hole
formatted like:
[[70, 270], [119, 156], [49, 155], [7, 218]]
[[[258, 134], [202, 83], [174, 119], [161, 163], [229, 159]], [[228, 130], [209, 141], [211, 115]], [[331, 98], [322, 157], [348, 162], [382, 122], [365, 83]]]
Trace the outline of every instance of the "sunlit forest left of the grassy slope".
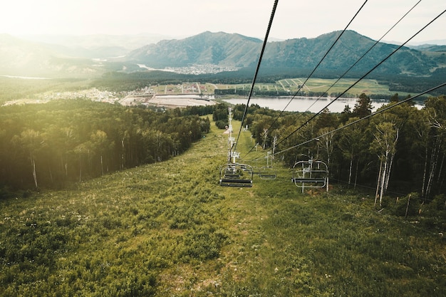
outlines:
[[0, 108], [0, 189], [60, 188], [185, 152], [209, 132], [199, 108], [54, 100]]

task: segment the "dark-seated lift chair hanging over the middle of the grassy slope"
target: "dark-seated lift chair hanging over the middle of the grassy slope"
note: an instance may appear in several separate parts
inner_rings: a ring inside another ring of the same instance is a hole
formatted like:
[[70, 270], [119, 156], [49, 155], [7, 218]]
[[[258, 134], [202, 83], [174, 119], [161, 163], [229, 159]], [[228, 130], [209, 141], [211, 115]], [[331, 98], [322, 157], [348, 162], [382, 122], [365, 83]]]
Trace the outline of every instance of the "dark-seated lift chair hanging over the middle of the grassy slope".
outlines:
[[220, 167], [220, 186], [252, 187], [252, 167], [245, 164], [230, 163]]

